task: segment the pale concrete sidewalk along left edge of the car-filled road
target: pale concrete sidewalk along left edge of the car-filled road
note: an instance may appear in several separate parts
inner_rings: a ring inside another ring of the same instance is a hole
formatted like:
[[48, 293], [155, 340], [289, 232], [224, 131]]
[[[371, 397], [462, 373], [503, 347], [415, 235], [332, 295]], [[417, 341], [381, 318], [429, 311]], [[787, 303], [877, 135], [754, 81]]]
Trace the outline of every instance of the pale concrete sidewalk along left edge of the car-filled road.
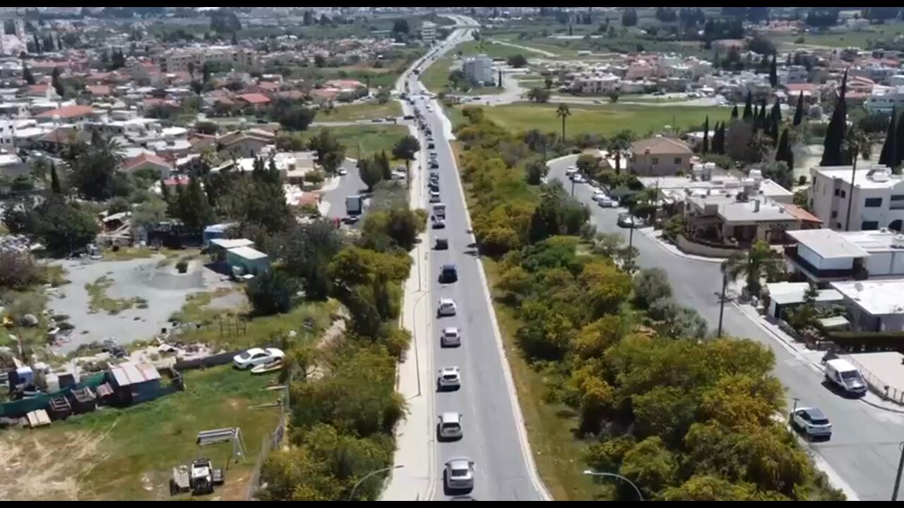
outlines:
[[[408, 114], [410, 106], [402, 103], [402, 110]], [[409, 127], [412, 136], [418, 136], [414, 127]], [[425, 195], [421, 184], [421, 161], [424, 152], [411, 165], [410, 207], [425, 206]], [[429, 306], [429, 245], [428, 234], [419, 236], [417, 247], [411, 251], [412, 269], [405, 281], [402, 296], [401, 326], [411, 333], [411, 344], [399, 363], [396, 374], [396, 390], [408, 405], [408, 415], [396, 427], [396, 451], [393, 464], [403, 466], [391, 472], [381, 501], [424, 501], [433, 497], [435, 486], [436, 460], [432, 432], [436, 421], [433, 405], [433, 355], [430, 354], [431, 336]]]

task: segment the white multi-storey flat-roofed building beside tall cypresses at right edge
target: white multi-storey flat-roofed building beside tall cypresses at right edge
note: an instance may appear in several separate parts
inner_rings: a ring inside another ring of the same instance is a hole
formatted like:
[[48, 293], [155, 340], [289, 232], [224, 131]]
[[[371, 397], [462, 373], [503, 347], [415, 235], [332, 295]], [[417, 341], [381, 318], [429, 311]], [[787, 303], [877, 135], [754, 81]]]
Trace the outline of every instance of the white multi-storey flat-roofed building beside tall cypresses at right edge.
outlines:
[[904, 229], [904, 180], [888, 167], [861, 164], [856, 174], [849, 165], [811, 169], [811, 211], [833, 230]]

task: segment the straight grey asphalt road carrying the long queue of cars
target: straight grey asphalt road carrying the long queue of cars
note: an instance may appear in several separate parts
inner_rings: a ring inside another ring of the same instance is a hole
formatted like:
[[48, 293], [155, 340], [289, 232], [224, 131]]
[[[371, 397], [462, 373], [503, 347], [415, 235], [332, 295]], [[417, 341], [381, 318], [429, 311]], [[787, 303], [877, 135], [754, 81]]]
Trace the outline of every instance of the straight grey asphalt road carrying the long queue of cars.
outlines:
[[[450, 36], [454, 39], [455, 34]], [[448, 47], [455, 41], [447, 42]], [[412, 91], [422, 89], [410, 80]], [[447, 206], [446, 228], [430, 230], [429, 245], [437, 238], [447, 238], [449, 249], [433, 250], [430, 259], [431, 287], [428, 312], [433, 315], [432, 359], [438, 370], [443, 366], [461, 369], [462, 387], [457, 391], [435, 394], [436, 414], [446, 411], [462, 413], [464, 437], [455, 442], [434, 442], [438, 474], [434, 499], [445, 500], [442, 472], [448, 459], [465, 456], [476, 463], [475, 488], [470, 495], [478, 501], [538, 501], [541, 494], [533, 486], [518, 436], [513, 411], [513, 397], [505, 381], [499, 346], [494, 338], [494, 323], [490, 307], [484, 297], [483, 281], [478, 271], [473, 235], [468, 230], [466, 203], [458, 180], [456, 161], [444, 136], [442, 108], [434, 101], [433, 112], [427, 113], [424, 99], [416, 99], [433, 130], [438, 153], [439, 188], [442, 202]], [[427, 146], [421, 136], [422, 146]], [[425, 165], [425, 167], [427, 167]], [[422, 180], [426, 184], [426, 178]], [[441, 285], [440, 266], [457, 266], [458, 281]], [[457, 304], [457, 315], [436, 317], [438, 300], [449, 297]], [[439, 333], [446, 326], [461, 331], [462, 346], [440, 348]], [[435, 390], [435, 387], [432, 387]], [[517, 400], [514, 400], [517, 403]]]

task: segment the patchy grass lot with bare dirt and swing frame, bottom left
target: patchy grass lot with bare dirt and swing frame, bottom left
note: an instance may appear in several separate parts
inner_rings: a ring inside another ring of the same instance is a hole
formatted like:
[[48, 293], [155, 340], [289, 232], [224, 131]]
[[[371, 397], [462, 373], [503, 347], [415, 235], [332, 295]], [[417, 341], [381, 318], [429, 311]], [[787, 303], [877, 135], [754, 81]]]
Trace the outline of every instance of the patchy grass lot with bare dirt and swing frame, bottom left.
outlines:
[[[15, 500], [170, 499], [171, 468], [205, 456], [225, 468], [227, 443], [198, 447], [201, 430], [239, 427], [247, 456], [230, 464], [226, 484], [195, 499], [242, 501], [264, 437], [279, 409], [250, 409], [278, 400], [265, 390], [275, 376], [221, 366], [185, 372], [185, 390], [126, 409], [105, 408], [50, 427], [0, 434], [0, 498]], [[187, 501], [189, 494], [175, 499]]]

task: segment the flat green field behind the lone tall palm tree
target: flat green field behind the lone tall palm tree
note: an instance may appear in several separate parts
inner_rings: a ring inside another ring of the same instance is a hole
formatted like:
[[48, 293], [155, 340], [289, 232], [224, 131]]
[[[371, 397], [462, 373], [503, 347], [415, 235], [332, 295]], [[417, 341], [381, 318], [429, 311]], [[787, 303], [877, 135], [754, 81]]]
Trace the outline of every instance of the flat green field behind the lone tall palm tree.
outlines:
[[[540, 129], [560, 132], [561, 120], [556, 117], [558, 104], [515, 103], [484, 108], [487, 118], [513, 131]], [[569, 106], [571, 116], [566, 121], [566, 136], [579, 133], [611, 135], [631, 129], [637, 136], [650, 131], [661, 132], [666, 126], [685, 129], [698, 127], [707, 115], [710, 122], [729, 118], [730, 108], [695, 106], [643, 106], [634, 104], [603, 104], [599, 106]]]

